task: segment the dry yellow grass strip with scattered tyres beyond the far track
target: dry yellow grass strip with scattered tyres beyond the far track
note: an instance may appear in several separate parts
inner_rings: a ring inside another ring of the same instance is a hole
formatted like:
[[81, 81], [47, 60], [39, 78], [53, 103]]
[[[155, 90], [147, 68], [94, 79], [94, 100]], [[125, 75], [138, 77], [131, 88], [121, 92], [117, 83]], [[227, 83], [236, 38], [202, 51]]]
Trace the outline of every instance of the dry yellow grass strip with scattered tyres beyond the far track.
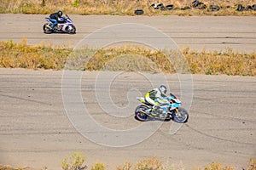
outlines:
[[[50, 14], [61, 9], [66, 14], [119, 14], [133, 15], [137, 8], [143, 9], [144, 14], [178, 14], [178, 15], [255, 15], [256, 11], [236, 11], [237, 4], [253, 5], [254, 0], [201, 0], [209, 8], [210, 5], [221, 7], [219, 11], [209, 12], [207, 9], [190, 8], [193, 0], [9, 0], [0, 1], [0, 13]], [[176, 10], [155, 10], [153, 3], [173, 4]]]

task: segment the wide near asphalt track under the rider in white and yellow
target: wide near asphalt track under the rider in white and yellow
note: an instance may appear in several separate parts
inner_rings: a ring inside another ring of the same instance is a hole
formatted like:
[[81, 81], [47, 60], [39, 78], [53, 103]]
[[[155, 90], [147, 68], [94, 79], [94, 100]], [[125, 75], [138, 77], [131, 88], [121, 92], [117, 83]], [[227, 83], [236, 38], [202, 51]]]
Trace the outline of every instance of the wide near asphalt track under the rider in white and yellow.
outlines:
[[[81, 120], [85, 131], [88, 129], [92, 137], [102, 138], [100, 142], [103, 144], [73, 127], [76, 122], [71, 123], [67, 103], [63, 104], [65, 95], [62, 94], [65, 94], [65, 87], [74, 88], [73, 82], [77, 78], [67, 76], [65, 79], [69, 83], [65, 86], [61, 81], [63, 75], [62, 71], [0, 70], [0, 164], [61, 169], [60, 162], [64, 157], [78, 150], [87, 156], [85, 162], [88, 166], [104, 162], [108, 169], [114, 169], [127, 160], [134, 165], [138, 160], [153, 156], [186, 169], [212, 161], [241, 169], [246, 167], [250, 156], [256, 156], [255, 77], [194, 75], [192, 105], [186, 108], [189, 122], [171, 134], [173, 122], [138, 122], [133, 117], [133, 111], [139, 105], [134, 98], [151, 88], [146, 77], [150, 80], [150, 77], [159, 75], [119, 73], [108, 88], [102, 86], [102, 83], [108, 84], [108, 78], [96, 83], [97, 77], [108, 77], [108, 72], [85, 71], [81, 77], [80, 93], [90, 114], [88, 119], [113, 129], [113, 133], [115, 130], [125, 133], [146, 124], [148, 127], [136, 131], [137, 137], [151, 132], [160, 124], [149, 138], [127, 143], [124, 147], [109, 147], [105, 139], [110, 133], [86, 128], [88, 120]], [[170, 91], [180, 97], [178, 77], [166, 75], [166, 80]], [[127, 94], [134, 89], [137, 93]], [[97, 98], [105, 92], [113, 101]], [[125, 116], [113, 116], [102, 109], [102, 105], [113, 104], [122, 108], [128, 105], [128, 101], [131, 108], [124, 109]], [[70, 102], [78, 105], [75, 100]], [[78, 107], [74, 106], [73, 110], [76, 109]], [[125, 137], [119, 140], [130, 141]], [[119, 141], [115, 143], [119, 144]]]

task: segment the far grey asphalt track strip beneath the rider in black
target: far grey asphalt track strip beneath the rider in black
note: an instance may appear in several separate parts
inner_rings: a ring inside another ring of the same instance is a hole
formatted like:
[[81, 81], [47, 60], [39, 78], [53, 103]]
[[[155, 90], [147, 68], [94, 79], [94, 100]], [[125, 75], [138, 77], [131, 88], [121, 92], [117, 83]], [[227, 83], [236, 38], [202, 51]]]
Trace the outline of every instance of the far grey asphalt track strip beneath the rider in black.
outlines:
[[76, 35], [45, 35], [42, 30], [46, 23], [44, 17], [48, 15], [0, 14], [0, 41], [12, 39], [20, 42], [25, 37], [28, 44], [66, 44], [66, 47], [73, 48], [84, 37], [105, 26], [137, 23], [162, 31], [182, 49], [223, 51], [232, 48], [251, 53], [256, 46], [256, 18], [253, 16], [70, 15], [77, 27]]

